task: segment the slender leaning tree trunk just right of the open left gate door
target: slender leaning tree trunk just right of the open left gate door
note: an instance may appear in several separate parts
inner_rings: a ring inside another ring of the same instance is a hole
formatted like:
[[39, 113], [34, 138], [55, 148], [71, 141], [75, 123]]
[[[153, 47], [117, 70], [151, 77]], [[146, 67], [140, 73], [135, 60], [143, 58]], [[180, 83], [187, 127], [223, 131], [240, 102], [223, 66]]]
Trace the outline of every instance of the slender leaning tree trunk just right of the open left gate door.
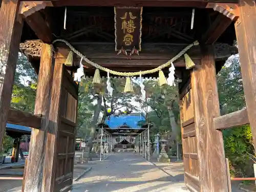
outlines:
[[97, 106], [94, 110], [93, 121], [90, 125], [91, 132], [90, 132], [90, 137], [89, 137], [89, 140], [88, 140], [88, 153], [89, 153], [89, 157], [90, 157], [89, 160], [90, 161], [92, 160], [91, 152], [92, 152], [92, 148], [93, 148], [93, 140], [94, 140], [95, 135], [96, 135], [96, 123], [97, 123], [98, 118], [99, 118], [99, 114], [100, 114], [100, 110], [101, 110], [101, 103], [102, 103], [102, 95], [99, 95], [98, 99], [97, 99]]

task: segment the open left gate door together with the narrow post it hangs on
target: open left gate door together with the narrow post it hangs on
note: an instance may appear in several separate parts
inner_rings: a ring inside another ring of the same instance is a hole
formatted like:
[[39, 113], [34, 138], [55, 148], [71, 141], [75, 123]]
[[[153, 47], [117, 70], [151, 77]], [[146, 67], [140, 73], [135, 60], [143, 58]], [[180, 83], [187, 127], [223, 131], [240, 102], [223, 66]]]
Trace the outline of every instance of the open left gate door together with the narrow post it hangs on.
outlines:
[[73, 183], [78, 85], [55, 62], [42, 191], [69, 191]]

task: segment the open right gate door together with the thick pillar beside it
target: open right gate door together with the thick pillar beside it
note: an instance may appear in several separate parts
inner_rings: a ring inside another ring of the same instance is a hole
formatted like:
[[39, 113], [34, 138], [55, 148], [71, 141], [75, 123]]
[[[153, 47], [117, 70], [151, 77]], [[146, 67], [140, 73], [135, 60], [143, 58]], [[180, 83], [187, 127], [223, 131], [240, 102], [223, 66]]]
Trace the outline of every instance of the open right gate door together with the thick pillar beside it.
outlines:
[[[201, 65], [179, 84], [185, 185], [190, 191], [229, 191], [220, 116], [215, 57], [201, 46]], [[224, 122], [224, 121], [223, 121]], [[218, 167], [218, 168], [217, 168]]]

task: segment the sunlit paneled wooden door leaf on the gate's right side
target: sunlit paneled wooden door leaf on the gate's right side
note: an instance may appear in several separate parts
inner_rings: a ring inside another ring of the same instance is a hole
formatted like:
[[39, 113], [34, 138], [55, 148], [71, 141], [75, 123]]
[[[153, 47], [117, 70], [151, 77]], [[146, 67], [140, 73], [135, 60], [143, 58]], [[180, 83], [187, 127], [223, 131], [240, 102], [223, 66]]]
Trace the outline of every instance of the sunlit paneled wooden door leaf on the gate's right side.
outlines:
[[185, 185], [190, 191], [200, 191], [197, 136], [191, 90], [180, 100], [182, 150]]

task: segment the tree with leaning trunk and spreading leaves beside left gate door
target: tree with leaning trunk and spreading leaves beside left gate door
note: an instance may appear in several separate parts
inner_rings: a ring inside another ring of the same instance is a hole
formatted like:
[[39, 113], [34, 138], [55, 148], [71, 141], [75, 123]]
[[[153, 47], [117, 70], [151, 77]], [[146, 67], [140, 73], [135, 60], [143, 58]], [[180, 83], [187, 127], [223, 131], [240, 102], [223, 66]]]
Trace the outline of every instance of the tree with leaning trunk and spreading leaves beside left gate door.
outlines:
[[[110, 115], [123, 114], [124, 112], [121, 111], [123, 108], [127, 113], [131, 113], [131, 111], [135, 109], [131, 104], [133, 96], [123, 93], [125, 85], [124, 79], [111, 79], [112, 87], [114, 88], [112, 96], [109, 96], [106, 91], [106, 79], [102, 78], [101, 82], [100, 85], [95, 87], [92, 83], [92, 79], [87, 78], [83, 79], [80, 87], [81, 102], [78, 114], [81, 116], [78, 124], [80, 132], [87, 134], [90, 132], [88, 141], [89, 154], [92, 151], [93, 140], [96, 137], [96, 127], [98, 122], [104, 123], [105, 119]], [[90, 105], [90, 103], [93, 102], [96, 104]], [[99, 121], [100, 113], [102, 114], [102, 118]], [[87, 120], [84, 120], [85, 116], [87, 116]], [[84, 132], [84, 130], [86, 131]]]

